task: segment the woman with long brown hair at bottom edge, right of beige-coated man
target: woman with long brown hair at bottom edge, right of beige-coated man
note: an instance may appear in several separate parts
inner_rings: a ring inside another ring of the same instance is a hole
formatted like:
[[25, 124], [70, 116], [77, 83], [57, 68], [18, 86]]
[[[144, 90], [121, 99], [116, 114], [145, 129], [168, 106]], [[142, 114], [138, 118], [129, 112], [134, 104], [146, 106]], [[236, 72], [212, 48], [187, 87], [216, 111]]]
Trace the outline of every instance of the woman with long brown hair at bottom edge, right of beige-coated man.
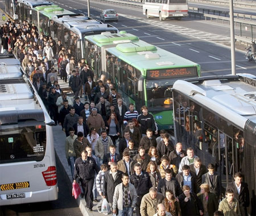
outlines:
[[181, 216], [180, 203], [177, 198], [174, 197], [172, 190], [166, 190], [166, 198], [164, 198], [164, 206], [166, 211], [170, 212], [172, 216]]

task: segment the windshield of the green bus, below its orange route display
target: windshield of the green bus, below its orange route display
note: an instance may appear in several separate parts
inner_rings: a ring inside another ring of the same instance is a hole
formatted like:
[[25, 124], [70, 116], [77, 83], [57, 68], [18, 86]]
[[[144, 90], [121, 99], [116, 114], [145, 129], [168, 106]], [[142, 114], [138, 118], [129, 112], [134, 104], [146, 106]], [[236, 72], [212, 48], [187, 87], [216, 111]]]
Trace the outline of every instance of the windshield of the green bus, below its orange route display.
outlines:
[[171, 87], [174, 82], [174, 79], [162, 79], [146, 82], [147, 106], [151, 112], [162, 109], [172, 109]]

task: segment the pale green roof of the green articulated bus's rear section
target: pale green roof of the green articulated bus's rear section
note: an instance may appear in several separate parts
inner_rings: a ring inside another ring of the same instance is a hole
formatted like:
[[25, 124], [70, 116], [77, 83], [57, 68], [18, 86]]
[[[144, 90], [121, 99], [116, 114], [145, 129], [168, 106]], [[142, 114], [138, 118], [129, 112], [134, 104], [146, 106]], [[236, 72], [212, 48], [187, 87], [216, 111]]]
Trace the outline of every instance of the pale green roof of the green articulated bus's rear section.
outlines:
[[89, 35], [85, 36], [86, 40], [89, 40], [93, 44], [96, 44], [99, 47], [114, 45], [118, 43], [127, 43], [127, 41], [138, 41], [139, 37], [121, 31], [119, 33], [101, 33], [100, 35]]

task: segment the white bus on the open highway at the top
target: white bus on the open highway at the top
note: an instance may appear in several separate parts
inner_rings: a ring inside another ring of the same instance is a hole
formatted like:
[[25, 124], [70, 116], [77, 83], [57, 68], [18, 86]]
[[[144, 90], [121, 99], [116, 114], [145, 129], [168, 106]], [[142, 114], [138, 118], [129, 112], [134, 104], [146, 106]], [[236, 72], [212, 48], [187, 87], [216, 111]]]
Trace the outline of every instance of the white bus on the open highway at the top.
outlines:
[[159, 17], [160, 21], [168, 17], [177, 20], [188, 16], [187, 0], [143, 0], [143, 14], [150, 18]]

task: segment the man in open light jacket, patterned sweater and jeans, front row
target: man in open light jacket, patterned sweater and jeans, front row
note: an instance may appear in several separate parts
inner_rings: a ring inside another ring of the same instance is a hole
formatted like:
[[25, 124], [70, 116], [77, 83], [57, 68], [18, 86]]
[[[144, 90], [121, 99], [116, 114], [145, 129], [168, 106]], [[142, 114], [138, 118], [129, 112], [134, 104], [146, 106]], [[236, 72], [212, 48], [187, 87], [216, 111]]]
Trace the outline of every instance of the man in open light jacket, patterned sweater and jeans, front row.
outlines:
[[133, 215], [133, 209], [137, 202], [137, 192], [133, 184], [129, 183], [129, 175], [122, 174], [122, 183], [115, 187], [112, 212], [118, 216]]

